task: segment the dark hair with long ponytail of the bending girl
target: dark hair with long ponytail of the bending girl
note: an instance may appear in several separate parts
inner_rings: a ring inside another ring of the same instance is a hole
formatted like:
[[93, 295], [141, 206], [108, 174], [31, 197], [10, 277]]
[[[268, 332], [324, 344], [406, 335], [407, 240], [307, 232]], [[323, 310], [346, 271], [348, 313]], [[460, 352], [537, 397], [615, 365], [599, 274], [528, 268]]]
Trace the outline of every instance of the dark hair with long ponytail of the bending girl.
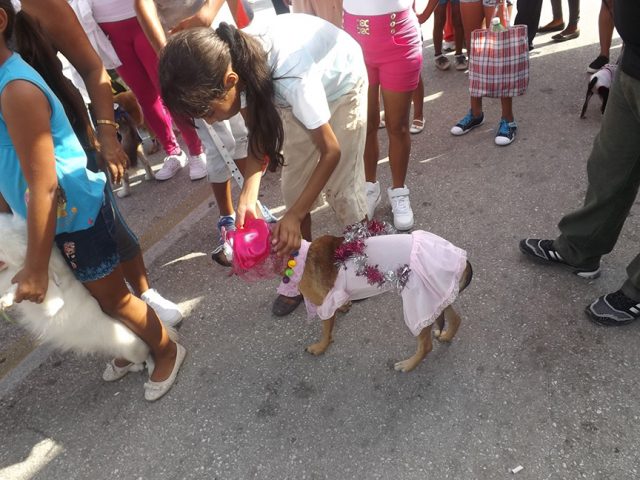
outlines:
[[283, 164], [284, 128], [275, 104], [272, 69], [262, 45], [226, 23], [177, 33], [160, 54], [162, 98], [171, 112], [202, 118], [212, 101], [226, 95], [231, 64], [245, 87], [249, 148], [269, 157], [271, 170]]

